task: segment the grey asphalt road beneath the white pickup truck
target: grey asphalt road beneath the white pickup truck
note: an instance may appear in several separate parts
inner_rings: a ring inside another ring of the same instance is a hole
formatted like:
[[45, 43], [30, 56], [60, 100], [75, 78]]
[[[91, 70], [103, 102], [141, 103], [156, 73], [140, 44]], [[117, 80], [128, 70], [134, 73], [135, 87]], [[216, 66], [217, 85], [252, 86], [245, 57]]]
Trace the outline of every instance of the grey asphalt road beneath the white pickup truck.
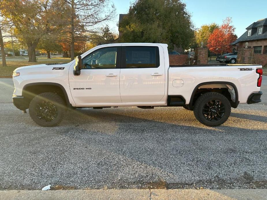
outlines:
[[0, 79], [0, 189], [267, 188], [267, 77], [263, 101], [239, 105], [220, 127], [177, 107], [68, 112], [37, 126]]

